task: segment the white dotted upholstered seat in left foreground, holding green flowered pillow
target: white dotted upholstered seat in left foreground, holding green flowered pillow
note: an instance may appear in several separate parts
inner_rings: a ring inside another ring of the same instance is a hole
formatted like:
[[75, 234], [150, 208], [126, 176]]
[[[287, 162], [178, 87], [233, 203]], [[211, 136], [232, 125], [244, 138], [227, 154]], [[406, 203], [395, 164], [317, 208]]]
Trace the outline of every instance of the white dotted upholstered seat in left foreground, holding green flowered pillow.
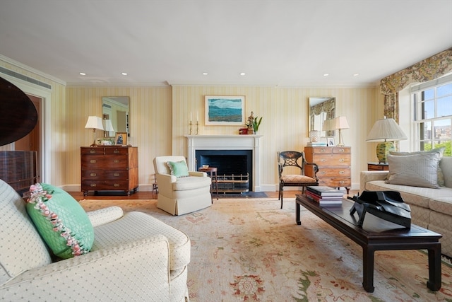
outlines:
[[0, 180], [1, 301], [188, 301], [190, 239], [148, 214], [88, 212], [90, 252], [54, 261], [25, 210]]

